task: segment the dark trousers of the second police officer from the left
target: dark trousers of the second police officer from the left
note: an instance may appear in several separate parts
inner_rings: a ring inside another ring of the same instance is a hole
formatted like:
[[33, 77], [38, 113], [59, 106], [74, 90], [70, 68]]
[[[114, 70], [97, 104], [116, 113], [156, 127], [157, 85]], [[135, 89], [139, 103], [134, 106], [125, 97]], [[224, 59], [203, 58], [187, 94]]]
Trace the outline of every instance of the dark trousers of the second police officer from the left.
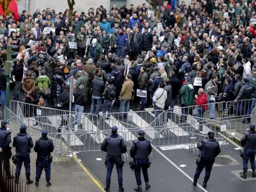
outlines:
[[17, 154], [17, 165], [16, 165], [16, 170], [15, 170], [15, 177], [19, 178], [20, 177], [20, 170], [22, 168], [22, 164], [24, 162], [24, 167], [25, 167], [25, 175], [27, 180], [30, 180], [30, 155], [29, 153], [25, 153], [25, 154], [20, 154], [18, 152]]

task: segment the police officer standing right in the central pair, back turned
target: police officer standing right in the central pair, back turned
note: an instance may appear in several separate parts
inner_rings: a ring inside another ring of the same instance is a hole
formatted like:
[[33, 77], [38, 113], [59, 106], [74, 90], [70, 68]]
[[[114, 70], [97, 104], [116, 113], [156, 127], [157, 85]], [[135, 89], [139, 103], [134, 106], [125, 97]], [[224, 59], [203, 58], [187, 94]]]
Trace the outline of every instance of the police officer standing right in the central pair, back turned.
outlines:
[[152, 151], [152, 146], [150, 141], [144, 138], [145, 132], [140, 130], [138, 132], [138, 140], [135, 140], [132, 148], [130, 148], [130, 156], [134, 158], [134, 173], [137, 182], [137, 188], [134, 188], [134, 191], [142, 192], [142, 180], [140, 178], [140, 170], [142, 170], [143, 177], [146, 183], [146, 190], [150, 188], [148, 184], [148, 156]]

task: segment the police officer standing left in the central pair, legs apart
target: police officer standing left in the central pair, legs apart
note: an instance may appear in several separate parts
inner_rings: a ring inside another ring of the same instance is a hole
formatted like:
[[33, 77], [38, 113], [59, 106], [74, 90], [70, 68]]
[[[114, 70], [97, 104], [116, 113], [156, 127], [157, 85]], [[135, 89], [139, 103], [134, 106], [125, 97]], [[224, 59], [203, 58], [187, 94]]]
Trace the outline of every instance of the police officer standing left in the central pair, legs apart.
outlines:
[[117, 134], [116, 126], [111, 128], [111, 132], [112, 134], [107, 136], [101, 143], [101, 151], [107, 152], [105, 159], [105, 165], [107, 168], [105, 191], [110, 191], [111, 173], [115, 164], [117, 170], [119, 192], [122, 192], [124, 191], [124, 188], [122, 188], [122, 166], [124, 165], [124, 161], [122, 161], [122, 153], [125, 153], [127, 148], [122, 136]]

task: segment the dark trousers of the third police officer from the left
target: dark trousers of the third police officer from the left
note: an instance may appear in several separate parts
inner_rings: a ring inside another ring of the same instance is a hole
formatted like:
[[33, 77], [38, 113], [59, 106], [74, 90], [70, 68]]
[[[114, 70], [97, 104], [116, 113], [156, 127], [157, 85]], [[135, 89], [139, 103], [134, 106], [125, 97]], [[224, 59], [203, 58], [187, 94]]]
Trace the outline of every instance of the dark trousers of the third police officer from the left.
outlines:
[[51, 179], [51, 162], [41, 158], [36, 161], [36, 182], [39, 182], [43, 169], [45, 169], [46, 182]]

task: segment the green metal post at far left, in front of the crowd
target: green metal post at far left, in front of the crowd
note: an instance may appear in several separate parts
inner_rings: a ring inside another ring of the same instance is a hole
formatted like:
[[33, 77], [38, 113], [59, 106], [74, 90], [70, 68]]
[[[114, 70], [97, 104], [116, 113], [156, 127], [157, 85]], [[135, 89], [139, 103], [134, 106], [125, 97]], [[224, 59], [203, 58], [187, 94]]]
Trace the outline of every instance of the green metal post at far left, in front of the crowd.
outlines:
[[10, 106], [10, 99], [9, 99], [9, 93], [10, 93], [10, 75], [12, 72], [12, 46], [7, 45], [7, 60], [4, 64], [4, 75], [6, 75], [6, 107], [9, 108]]

